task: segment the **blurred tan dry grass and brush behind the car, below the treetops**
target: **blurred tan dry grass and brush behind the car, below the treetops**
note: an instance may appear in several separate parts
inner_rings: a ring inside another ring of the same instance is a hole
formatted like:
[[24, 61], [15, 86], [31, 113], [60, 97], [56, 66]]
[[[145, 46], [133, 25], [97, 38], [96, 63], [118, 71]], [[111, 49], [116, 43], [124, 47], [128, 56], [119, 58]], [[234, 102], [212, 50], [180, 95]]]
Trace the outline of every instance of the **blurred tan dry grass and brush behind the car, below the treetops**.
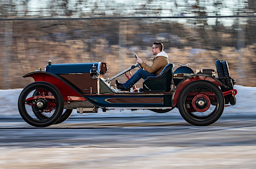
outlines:
[[[227, 60], [237, 84], [256, 86], [256, 43], [237, 50], [234, 47], [237, 39], [229, 32], [205, 29], [205, 38], [202, 38], [196, 27], [137, 20], [121, 24], [119, 20], [16, 21], [11, 42], [6, 42], [5, 32], [5, 25], [0, 25], [1, 89], [25, 87], [33, 80], [22, 75], [39, 67], [44, 69], [48, 60], [53, 63], [106, 62], [110, 72], [105, 77], [110, 78], [135, 64], [133, 53], [150, 65], [154, 41], [164, 43], [169, 62], [176, 68], [178, 63], [190, 63], [194, 71], [216, 70], [215, 60]], [[127, 80], [124, 75], [119, 79]], [[137, 87], [141, 83], [142, 80]]]

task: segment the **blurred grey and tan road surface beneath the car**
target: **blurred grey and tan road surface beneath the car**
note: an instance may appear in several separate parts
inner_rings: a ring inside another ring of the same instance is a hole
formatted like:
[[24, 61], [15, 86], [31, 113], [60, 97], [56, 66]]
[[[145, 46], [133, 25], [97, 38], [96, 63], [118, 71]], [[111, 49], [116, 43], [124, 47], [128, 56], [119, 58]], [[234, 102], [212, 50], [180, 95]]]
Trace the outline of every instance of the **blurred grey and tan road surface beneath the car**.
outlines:
[[69, 118], [45, 128], [0, 119], [0, 168], [256, 168], [256, 116], [210, 126], [181, 116]]

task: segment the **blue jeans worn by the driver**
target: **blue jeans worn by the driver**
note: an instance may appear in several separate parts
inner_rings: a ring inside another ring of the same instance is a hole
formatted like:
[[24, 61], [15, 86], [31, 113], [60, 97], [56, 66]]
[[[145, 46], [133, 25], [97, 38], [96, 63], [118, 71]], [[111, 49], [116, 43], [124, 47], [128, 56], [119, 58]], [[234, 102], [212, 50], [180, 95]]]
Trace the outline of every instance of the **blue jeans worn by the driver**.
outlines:
[[123, 83], [124, 88], [130, 89], [135, 83], [137, 83], [141, 78], [147, 79], [149, 76], [156, 76], [154, 73], [148, 73], [147, 71], [144, 71], [143, 69], [137, 70], [132, 77], [127, 80], [127, 82]]

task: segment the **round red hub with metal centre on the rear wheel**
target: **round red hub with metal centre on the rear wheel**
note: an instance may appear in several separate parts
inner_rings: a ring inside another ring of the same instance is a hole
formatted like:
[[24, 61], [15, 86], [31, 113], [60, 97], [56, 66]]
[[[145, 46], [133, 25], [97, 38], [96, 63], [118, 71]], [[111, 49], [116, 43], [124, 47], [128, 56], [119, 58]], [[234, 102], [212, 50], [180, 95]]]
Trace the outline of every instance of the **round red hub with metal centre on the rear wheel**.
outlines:
[[210, 99], [207, 95], [199, 94], [196, 95], [192, 100], [193, 108], [198, 112], [207, 111], [210, 107]]

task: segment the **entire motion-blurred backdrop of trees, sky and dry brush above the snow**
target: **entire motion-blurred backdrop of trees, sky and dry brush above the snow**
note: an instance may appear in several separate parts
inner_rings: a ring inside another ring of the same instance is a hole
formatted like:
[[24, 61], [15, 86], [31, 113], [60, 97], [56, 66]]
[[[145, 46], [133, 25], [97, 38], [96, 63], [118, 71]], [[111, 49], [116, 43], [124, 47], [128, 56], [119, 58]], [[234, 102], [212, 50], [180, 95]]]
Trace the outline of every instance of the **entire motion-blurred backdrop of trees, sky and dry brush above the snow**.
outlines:
[[255, 0], [1, 0], [0, 89], [25, 87], [33, 79], [22, 75], [48, 60], [106, 62], [110, 78], [133, 53], [151, 65], [155, 41], [176, 67], [227, 60], [236, 84], [255, 87], [255, 12]]

